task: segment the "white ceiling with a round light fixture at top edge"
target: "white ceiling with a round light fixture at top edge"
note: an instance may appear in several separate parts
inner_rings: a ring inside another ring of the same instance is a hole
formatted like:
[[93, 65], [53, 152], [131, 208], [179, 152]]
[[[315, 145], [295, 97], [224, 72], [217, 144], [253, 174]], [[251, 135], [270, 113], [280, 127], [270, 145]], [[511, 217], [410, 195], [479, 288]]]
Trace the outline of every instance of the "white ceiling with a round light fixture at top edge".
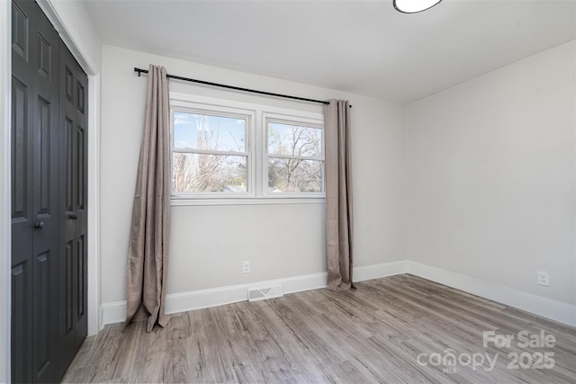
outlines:
[[84, 1], [104, 44], [402, 103], [576, 38], [576, 0]]

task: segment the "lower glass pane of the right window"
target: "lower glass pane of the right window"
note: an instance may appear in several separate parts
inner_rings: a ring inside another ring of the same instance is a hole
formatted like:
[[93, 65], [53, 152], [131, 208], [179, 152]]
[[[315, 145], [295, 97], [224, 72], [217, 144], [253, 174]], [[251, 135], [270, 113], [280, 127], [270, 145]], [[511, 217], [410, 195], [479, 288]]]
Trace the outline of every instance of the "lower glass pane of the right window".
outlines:
[[268, 192], [322, 192], [323, 162], [268, 158]]

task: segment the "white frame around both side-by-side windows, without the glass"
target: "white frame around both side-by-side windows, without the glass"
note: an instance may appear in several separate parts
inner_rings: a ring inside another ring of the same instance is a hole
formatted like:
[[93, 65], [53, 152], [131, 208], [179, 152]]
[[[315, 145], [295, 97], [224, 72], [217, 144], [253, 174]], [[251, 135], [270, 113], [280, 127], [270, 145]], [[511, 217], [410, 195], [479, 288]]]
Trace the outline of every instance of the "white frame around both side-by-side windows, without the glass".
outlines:
[[[247, 119], [246, 150], [248, 164], [247, 192], [172, 192], [171, 205], [318, 204], [325, 202], [325, 192], [269, 193], [267, 169], [266, 121], [324, 129], [323, 113], [170, 92], [170, 162], [172, 162], [173, 150], [185, 152], [173, 147], [173, 112], [197, 112], [206, 115]], [[324, 161], [324, 133], [322, 130], [322, 161]], [[198, 153], [198, 151], [193, 151], [193, 153]], [[172, 166], [170, 166], [170, 170], [172, 172]], [[324, 174], [325, 166], [323, 167], [322, 179], [324, 179]], [[172, 174], [170, 180], [172, 180]], [[325, 186], [323, 185], [324, 190]]]

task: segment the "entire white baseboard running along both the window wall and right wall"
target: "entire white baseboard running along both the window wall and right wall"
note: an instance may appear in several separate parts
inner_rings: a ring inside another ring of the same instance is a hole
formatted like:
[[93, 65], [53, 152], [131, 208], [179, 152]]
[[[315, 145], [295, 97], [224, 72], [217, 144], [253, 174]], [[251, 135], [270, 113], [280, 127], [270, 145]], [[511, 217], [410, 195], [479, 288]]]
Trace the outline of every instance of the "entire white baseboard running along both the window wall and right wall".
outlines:
[[[402, 260], [392, 263], [379, 263], [354, 268], [354, 281], [366, 281], [402, 273], [411, 273], [429, 281], [436, 281], [456, 290], [472, 293], [485, 299], [498, 301], [511, 307], [526, 310], [569, 326], [576, 326], [576, 306], [554, 299], [482, 281], [462, 273], [446, 271], [422, 263]], [[302, 290], [318, 290], [327, 286], [327, 272], [312, 273], [250, 284], [230, 285], [209, 290], [166, 295], [166, 313], [185, 312], [193, 309], [210, 308], [247, 300], [247, 290], [258, 285], [282, 284], [284, 293]], [[126, 301], [105, 303], [101, 310], [100, 324], [121, 323], [126, 318]]]

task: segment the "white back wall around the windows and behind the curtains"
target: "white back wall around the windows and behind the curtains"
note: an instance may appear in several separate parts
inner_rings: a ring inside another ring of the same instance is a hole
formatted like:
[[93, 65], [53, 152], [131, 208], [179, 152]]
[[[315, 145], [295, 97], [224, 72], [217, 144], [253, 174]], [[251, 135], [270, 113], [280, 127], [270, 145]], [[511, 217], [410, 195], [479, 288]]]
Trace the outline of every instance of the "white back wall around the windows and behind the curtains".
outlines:
[[[356, 265], [404, 257], [404, 110], [356, 94], [286, 82], [174, 58], [103, 47], [101, 114], [102, 302], [125, 299], [125, 264], [147, 80], [134, 67], [353, 104]], [[318, 104], [171, 81], [171, 91], [321, 112]], [[283, 235], [280, 235], [283, 234]], [[325, 272], [323, 204], [173, 207], [168, 293]], [[252, 273], [241, 273], [241, 262]]]

